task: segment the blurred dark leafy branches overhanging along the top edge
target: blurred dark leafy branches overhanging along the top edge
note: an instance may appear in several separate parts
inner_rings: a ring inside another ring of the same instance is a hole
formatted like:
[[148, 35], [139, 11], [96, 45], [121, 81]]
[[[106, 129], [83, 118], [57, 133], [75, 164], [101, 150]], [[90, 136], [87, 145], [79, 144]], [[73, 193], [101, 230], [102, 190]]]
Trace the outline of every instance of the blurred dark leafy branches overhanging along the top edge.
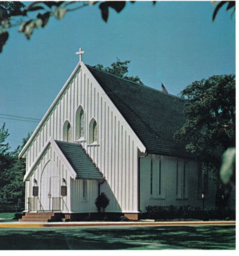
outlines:
[[[9, 28], [19, 27], [19, 32], [24, 33], [29, 40], [32, 33], [37, 28], [44, 28], [51, 17], [63, 19], [66, 13], [82, 9], [86, 6], [98, 5], [103, 21], [107, 22], [110, 10], [120, 13], [128, 3], [135, 1], [34, 1], [28, 7], [20, 1], [1, 1], [0, 2], [0, 53], [9, 38]], [[153, 4], [156, 1], [152, 1]], [[235, 1], [220, 1], [215, 7], [212, 19], [218, 10], [228, 3], [227, 10], [233, 8], [235, 13]], [[28, 15], [34, 13], [35, 18]]]

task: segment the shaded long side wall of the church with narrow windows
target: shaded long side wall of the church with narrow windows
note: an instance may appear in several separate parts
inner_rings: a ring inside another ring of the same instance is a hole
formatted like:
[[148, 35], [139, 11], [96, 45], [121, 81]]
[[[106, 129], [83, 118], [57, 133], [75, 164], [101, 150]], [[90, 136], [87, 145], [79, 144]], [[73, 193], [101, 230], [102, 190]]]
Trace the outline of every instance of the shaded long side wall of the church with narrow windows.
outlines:
[[[140, 159], [140, 210], [148, 205], [202, 207], [202, 184], [195, 161], [151, 155]], [[210, 182], [210, 192], [215, 191]]]

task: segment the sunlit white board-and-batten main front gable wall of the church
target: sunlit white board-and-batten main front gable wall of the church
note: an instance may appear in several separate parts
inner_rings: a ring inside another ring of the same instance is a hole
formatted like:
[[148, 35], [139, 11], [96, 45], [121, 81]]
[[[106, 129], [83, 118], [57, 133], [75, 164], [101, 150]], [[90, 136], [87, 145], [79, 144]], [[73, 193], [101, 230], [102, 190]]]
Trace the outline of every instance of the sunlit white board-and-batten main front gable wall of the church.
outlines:
[[[85, 134], [77, 141], [78, 107], [85, 113]], [[89, 124], [93, 118], [97, 122], [97, 143], [89, 144]], [[44, 119], [26, 152], [27, 170], [49, 137], [63, 140], [63, 125], [68, 121], [71, 141], [81, 143], [106, 178], [101, 185], [101, 192], [110, 199], [106, 211], [137, 212], [137, 151], [144, 152], [145, 147], [83, 63], [74, 71]], [[74, 186], [76, 184], [80, 185], [76, 182]]]

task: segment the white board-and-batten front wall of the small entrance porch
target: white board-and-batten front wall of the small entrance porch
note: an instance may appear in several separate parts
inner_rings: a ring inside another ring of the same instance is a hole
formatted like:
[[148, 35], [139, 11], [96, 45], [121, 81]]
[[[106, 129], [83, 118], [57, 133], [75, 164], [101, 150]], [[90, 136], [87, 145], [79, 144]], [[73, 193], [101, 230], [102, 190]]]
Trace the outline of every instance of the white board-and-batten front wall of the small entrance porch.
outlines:
[[[43, 182], [43, 179], [49, 182], [50, 179], [57, 180], [57, 184], [49, 184]], [[62, 179], [65, 179], [63, 183]], [[34, 183], [34, 179], [37, 181]], [[26, 205], [25, 209], [28, 210], [28, 198], [32, 198], [33, 186], [38, 186], [38, 210], [52, 210], [52, 201], [49, 199], [48, 194], [52, 196], [60, 197], [60, 186], [68, 186], [71, 183], [70, 173], [65, 166], [64, 162], [58, 156], [58, 153], [53, 149], [51, 145], [45, 150], [44, 155], [38, 161], [37, 165], [32, 171], [32, 175], [26, 182]], [[54, 189], [55, 188], [55, 189]], [[55, 193], [55, 195], [53, 195]], [[61, 199], [61, 210], [68, 213], [71, 208], [71, 197], [68, 191], [67, 196], [63, 196]], [[40, 205], [41, 204], [41, 205]]]

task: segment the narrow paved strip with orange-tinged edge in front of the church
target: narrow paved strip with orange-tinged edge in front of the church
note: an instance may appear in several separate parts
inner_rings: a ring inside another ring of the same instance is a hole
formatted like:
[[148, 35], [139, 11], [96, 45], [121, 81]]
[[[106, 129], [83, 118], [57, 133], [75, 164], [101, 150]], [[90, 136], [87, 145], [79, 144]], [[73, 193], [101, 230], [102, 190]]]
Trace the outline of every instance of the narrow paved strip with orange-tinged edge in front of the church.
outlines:
[[185, 226], [185, 225], [236, 225], [235, 221], [189, 222], [18, 222], [1, 220], [0, 228], [84, 227], [84, 226]]

